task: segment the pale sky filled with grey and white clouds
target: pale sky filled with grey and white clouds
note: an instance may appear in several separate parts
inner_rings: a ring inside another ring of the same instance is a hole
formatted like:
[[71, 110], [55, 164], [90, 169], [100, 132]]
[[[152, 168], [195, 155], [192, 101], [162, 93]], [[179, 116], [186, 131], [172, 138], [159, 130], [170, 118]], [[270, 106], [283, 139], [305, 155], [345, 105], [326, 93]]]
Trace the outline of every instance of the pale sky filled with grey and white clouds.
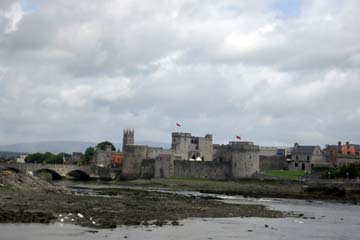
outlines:
[[[1, 0], [0, 144], [360, 143], [358, 0]], [[182, 126], [176, 129], [176, 123]]]

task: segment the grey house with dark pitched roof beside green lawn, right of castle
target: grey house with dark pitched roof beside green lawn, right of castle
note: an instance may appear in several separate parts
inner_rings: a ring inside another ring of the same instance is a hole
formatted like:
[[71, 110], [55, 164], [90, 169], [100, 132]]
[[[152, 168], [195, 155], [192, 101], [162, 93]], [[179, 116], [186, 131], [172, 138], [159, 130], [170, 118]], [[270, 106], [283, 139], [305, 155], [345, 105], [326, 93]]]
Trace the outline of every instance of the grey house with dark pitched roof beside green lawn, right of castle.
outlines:
[[326, 164], [324, 154], [319, 146], [294, 144], [291, 153], [289, 170], [311, 171], [314, 166]]

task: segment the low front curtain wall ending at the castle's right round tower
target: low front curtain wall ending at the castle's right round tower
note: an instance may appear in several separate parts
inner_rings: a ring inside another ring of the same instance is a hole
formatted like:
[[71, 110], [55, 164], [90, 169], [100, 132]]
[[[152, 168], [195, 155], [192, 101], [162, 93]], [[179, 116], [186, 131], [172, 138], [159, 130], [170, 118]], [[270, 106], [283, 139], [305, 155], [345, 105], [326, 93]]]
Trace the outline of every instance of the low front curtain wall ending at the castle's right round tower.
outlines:
[[225, 162], [174, 161], [174, 176], [182, 178], [228, 179], [231, 166]]

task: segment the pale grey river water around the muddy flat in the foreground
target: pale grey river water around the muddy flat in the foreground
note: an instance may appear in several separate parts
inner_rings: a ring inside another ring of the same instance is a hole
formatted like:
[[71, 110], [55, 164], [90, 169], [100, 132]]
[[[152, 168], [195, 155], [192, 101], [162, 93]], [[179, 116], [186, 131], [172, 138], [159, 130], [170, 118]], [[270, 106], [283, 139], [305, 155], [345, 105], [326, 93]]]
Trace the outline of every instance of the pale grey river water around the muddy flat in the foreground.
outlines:
[[[112, 186], [113, 187], [113, 186]], [[151, 189], [156, 190], [156, 189]], [[197, 192], [180, 192], [194, 195]], [[118, 227], [94, 230], [70, 224], [0, 224], [0, 240], [78, 239], [360, 239], [360, 206], [323, 201], [222, 196], [231, 203], [263, 204], [301, 218], [186, 219], [180, 226]]]

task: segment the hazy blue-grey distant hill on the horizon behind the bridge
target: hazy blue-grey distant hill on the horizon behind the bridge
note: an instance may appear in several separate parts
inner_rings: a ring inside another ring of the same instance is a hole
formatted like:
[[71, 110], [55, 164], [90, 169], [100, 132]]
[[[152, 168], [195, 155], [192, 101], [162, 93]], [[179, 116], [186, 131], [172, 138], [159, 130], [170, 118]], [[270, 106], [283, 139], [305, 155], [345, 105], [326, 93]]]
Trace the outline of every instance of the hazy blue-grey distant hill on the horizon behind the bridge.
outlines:
[[[122, 143], [113, 143], [117, 149], [122, 148]], [[171, 144], [161, 142], [144, 141], [136, 144], [148, 145], [151, 147], [170, 148]], [[43, 141], [43, 142], [30, 142], [30, 143], [17, 143], [10, 145], [0, 145], [0, 151], [7, 152], [52, 152], [52, 153], [72, 153], [84, 152], [88, 147], [95, 147], [96, 142], [82, 142], [82, 141]]]

